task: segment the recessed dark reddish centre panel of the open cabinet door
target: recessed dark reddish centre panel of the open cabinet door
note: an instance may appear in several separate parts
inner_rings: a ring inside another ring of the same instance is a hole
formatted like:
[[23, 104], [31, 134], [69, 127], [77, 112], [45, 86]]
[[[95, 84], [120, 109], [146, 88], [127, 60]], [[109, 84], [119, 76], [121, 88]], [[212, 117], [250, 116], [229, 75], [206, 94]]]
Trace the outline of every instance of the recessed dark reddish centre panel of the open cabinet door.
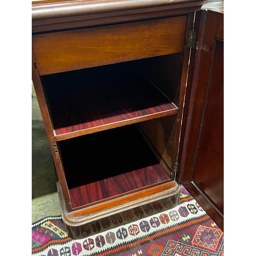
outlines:
[[217, 40], [198, 142], [194, 183], [224, 213], [224, 44]]

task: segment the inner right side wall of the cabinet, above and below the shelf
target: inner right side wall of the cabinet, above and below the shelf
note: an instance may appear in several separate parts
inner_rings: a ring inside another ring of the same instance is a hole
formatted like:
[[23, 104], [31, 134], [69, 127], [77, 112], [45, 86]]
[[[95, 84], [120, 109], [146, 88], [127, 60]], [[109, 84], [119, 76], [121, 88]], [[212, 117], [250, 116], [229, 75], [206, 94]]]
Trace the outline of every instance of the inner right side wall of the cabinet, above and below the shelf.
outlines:
[[[183, 58], [184, 52], [141, 59], [136, 65], [136, 68], [177, 106], [179, 106]], [[139, 124], [169, 171], [172, 170], [173, 165], [176, 125], [177, 115]]]

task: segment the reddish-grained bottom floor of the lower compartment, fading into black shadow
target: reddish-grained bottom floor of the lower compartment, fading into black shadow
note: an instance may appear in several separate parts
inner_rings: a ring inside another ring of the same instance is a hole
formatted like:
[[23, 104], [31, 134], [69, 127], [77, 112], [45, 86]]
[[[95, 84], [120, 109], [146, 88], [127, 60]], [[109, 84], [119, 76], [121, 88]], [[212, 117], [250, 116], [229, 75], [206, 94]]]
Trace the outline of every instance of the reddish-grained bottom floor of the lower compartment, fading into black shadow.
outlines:
[[72, 207], [170, 181], [134, 125], [59, 142]]

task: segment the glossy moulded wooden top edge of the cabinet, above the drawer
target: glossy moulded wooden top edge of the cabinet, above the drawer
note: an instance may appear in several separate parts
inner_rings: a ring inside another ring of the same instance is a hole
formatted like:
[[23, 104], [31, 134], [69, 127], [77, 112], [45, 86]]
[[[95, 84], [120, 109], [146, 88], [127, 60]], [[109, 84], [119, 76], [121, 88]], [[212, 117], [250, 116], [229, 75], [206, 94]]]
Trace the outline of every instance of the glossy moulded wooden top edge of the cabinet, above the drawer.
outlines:
[[161, 6], [198, 7], [206, 3], [207, 0], [32, 0], [32, 20]]

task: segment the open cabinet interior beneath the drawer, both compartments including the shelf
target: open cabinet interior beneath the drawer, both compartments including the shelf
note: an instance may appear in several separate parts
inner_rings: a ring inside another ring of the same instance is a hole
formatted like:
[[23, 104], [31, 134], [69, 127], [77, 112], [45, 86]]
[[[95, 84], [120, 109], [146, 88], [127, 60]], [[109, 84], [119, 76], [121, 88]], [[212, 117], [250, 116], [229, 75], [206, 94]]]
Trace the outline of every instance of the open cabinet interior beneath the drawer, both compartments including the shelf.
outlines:
[[169, 182], [183, 53], [41, 76], [72, 208]]

